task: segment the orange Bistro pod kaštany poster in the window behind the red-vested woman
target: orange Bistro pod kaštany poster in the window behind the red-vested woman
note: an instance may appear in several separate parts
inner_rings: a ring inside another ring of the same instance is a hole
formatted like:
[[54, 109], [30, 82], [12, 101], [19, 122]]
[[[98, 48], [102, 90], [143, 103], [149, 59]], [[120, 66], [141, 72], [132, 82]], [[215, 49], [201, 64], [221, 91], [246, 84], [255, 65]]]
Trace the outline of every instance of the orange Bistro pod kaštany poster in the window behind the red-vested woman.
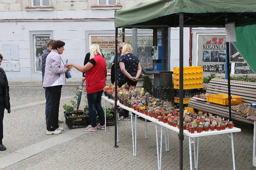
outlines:
[[[121, 38], [118, 38], [118, 45], [121, 42]], [[112, 67], [112, 62], [115, 58], [115, 36], [91, 36], [91, 44], [98, 44], [100, 51], [103, 53], [107, 63], [108, 73]]]

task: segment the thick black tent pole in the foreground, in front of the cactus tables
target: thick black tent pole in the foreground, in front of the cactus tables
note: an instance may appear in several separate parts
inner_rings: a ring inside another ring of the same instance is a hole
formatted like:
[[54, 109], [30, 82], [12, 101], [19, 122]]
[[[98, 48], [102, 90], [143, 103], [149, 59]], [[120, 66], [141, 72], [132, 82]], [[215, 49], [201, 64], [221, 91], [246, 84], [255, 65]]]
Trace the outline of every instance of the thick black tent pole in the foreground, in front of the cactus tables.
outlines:
[[183, 170], [183, 26], [184, 14], [180, 13], [180, 170]]

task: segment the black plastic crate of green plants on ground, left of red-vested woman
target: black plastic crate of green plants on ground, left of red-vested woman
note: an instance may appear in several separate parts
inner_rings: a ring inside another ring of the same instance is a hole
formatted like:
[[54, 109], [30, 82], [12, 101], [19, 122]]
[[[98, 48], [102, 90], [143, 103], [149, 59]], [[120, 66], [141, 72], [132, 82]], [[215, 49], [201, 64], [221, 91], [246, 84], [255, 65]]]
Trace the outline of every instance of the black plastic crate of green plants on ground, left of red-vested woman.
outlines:
[[[68, 118], [68, 116], [75, 114], [75, 115], [83, 115], [84, 117], [75, 117], [75, 118]], [[79, 112], [71, 112], [71, 113], [65, 113], [66, 118], [66, 124], [68, 124], [69, 129], [75, 129], [75, 128], [82, 128], [89, 125], [89, 117], [84, 114], [84, 112], [81, 110]]]

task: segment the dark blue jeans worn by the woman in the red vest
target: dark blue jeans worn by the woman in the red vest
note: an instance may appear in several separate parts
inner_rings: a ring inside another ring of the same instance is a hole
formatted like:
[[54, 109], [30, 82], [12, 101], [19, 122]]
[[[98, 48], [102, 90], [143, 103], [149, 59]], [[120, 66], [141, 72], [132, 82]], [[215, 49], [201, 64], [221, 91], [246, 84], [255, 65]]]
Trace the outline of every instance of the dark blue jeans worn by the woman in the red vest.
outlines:
[[97, 126], [96, 110], [97, 110], [98, 116], [100, 118], [100, 125], [105, 124], [105, 116], [104, 116], [103, 109], [101, 106], [102, 93], [103, 93], [103, 90], [98, 91], [96, 93], [87, 93], [88, 107], [89, 107], [89, 112], [90, 112], [90, 123], [91, 123], [92, 127]]

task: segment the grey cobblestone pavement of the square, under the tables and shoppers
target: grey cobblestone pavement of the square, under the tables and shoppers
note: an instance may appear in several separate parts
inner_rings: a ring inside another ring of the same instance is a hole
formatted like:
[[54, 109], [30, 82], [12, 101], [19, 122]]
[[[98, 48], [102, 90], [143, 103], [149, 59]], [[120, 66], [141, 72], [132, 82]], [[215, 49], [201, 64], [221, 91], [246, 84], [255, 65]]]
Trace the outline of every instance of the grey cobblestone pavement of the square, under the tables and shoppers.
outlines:
[[[60, 119], [64, 120], [62, 105], [69, 103], [74, 87], [62, 88], [60, 101]], [[44, 101], [44, 91], [39, 86], [10, 88], [11, 106], [16, 107], [11, 114], [4, 115], [4, 139], [7, 150], [0, 152], [7, 156], [24, 147], [37, 144], [57, 135], [46, 135], [44, 122], [44, 103], [22, 107], [23, 104]], [[81, 106], [84, 104], [82, 99]], [[111, 105], [108, 105], [110, 107]], [[82, 108], [82, 107], [81, 107]], [[107, 132], [82, 132], [62, 144], [39, 152], [4, 169], [157, 169], [155, 124], [148, 123], [148, 139], [145, 139], [145, 122], [138, 119], [137, 157], [132, 154], [132, 133], [129, 121], [119, 121], [118, 148], [114, 145], [114, 126], [108, 126]], [[66, 124], [60, 134], [73, 132]], [[253, 129], [251, 125], [235, 123], [242, 132], [234, 134], [236, 169], [256, 169], [252, 166]], [[81, 133], [82, 132], [82, 133]], [[160, 137], [160, 127], [158, 127]], [[160, 141], [160, 139], [159, 139]], [[163, 138], [164, 142], [164, 138]], [[184, 169], [189, 169], [188, 137], [184, 138]], [[232, 169], [231, 141], [226, 135], [200, 138], [198, 169]], [[194, 162], [194, 160], [193, 160]], [[179, 140], [176, 132], [170, 131], [170, 151], [165, 152], [163, 145], [162, 169], [179, 169]]]

